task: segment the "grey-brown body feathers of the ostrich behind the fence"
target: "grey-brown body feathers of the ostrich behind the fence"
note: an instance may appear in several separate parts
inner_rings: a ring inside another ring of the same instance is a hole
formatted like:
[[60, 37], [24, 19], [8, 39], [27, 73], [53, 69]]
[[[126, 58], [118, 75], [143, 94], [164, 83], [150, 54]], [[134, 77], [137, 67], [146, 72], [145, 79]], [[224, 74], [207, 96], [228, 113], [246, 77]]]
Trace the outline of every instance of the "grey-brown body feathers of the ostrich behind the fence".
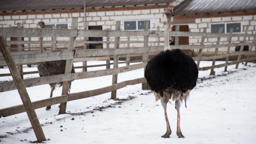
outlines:
[[[61, 50], [54, 50], [51, 52], [56, 52]], [[48, 62], [38, 62], [37, 69], [40, 77], [50, 76], [50, 75], [59, 75], [65, 73], [66, 60], [55, 60]], [[72, 65], [71, 73], [74, 73], [74, 65]], [[61, 87], [63, 82], [54, 83], [54, 85], [59, 84]], [[50, 84], [52, 85], [52, 84]], [[70, 88], [69, 88], [70, 89]]]

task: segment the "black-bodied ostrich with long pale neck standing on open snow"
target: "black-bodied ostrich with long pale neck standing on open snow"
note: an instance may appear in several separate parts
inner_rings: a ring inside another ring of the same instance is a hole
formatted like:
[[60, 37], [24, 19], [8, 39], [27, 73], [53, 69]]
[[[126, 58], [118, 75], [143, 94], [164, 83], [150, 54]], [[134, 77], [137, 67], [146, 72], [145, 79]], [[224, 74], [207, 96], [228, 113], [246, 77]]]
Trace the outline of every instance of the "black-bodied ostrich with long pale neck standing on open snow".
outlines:
[[[164, 51], [149, 60], [145, 69], [145, 78], [153, 91], [156, 101], [161, 100], [166, 120], [166, 133], [163, 138], [169, 138], [171, 127], [168, 121], [166, 107], [169, 99], [175, 100], [177, 110], [177, 132], [178, 138], [184, 138], [180, 130], [180, 101], [185, 101], [185, 107], [189, 92], [195, 87], [198, 70], [194, 60], [183, 53], [180, 49], [170, 49], [169, 31], [171, 25], [171, 8], [164, 9], [167, 17], [164, 31]], [[172, 97], [172, 98], [171, 98]]]

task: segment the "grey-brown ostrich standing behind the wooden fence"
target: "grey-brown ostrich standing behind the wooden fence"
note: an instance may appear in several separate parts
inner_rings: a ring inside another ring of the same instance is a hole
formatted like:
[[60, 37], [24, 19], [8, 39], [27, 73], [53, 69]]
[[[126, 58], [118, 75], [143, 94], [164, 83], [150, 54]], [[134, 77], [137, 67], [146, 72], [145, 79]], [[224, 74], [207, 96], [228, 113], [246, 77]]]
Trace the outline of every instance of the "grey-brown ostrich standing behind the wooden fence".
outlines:
[[[45, 28], [45, 23], [43, 21], [38, 22], [37, 24], [41, 28]], [[43, 53], [43, 37], [40, 37], [40, 51]], [[61, 52], [62, 50], [53, 50], [51, 52]], [[50, 76], [50, 75], [59, 75], [59, 74], [64, 74], [65, 73], [65, 67], [66, 67], [66, 60], [55, 60], [55, 61], [48, 61], [48, 62], [38, 62], [37, 69], [40, 77], [45, 77], [45, 76]], [[72, 70], [71, 73], [74, 73], [74, 65], [72, 65]], [[50, 98], [52, 98], [52, 93], [55, 89], [56, 85], [59, 85], [61, 87], [63, 82], [57, 82], [57, 83], [52, 83], [49, 84], [51, 87], [51, 93], [50, 93]], [[71, 84], [69, 85], [69, 91], [71, 88]], [[45, 108], [46, 110], [50, 110], [51, 106], [47, 106]]]

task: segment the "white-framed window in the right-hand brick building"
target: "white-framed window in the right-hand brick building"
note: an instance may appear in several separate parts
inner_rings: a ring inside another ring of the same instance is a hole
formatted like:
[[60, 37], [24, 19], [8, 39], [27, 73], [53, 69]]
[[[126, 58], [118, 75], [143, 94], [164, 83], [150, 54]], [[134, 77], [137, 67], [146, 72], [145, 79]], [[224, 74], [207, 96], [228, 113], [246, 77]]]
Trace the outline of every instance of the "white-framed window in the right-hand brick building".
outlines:
[[220, 27], [223, 27], [222, 33], [230, 33], [230, 28], [233, 28], [233, 33], [242, 33], [242, 22], [225, 22], [210, 24], [210, 32], [219, 33]]

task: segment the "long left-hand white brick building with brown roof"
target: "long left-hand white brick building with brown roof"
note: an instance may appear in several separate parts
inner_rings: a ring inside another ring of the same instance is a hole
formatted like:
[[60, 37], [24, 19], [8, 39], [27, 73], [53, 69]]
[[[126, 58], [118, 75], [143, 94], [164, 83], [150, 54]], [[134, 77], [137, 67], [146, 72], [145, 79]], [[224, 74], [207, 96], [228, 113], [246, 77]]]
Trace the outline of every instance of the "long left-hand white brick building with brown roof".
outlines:
[[[166, 19], [163, 8], [175, 7], [183, 0], [86, 0], [86, 25], [88, 29], [114, 30], [115, 22], [121, 21], [121, 30], [143, 30], [144, 21], [149, 21], [149, 29], [164, 30]], [[78, 29], [85, 28], [85, 13], [83, 0], [33, 0], [5, 1], [0, 5], [0, 27], [17, 26], [20, 22], [22, 27], [35, 28], [38, 21], [44, 21], [46, 28], [70, 28], [72, 17], [78, 17]], [[131, 37], [130, 41], [143, 41], [144, 37]], [[68, 40], [69, 38], [58, 37], [57, 41]], [[121, 38], [125, 40], [127, 38]], [[26, 40], [26, 38], [25, 38]], [[38, 38], [31, 38], [38, 41]], [[44, 41], [51, 38], [44, 38]], [[77, 38], [83, 40], [83, 38]], [[90, 40], [90, 39], [89, 39]], [[103, 38], [106, 41], [106, 38]], [[114, 41], [114, 38], [111, 38]], [[157, 38], [150, 38], [149, 41], [157, 41]], [[161, 38], [163, 41], [163, 38]], [[157, 43], [151, 42], [150, 46]], [[125, 47], [121, 44], [120, 47]], [[131, 43], [130, 47], [143, 46], [143, 43]], [[114, 44], [110, 44], [113, 48]], [[103, 45], [106, 48], [106, 45]]]

